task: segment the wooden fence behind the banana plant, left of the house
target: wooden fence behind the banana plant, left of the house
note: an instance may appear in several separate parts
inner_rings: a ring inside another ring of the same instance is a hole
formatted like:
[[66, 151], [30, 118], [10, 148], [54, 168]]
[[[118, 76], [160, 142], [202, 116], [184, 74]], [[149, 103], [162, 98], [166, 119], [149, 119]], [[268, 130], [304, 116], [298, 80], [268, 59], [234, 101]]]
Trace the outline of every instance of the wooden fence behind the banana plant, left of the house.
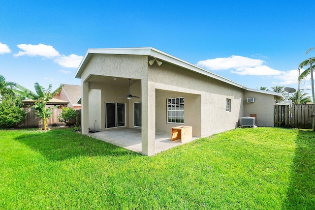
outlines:
[[[36, 116], [36, 111], [31, 108], [23, 109], [26, 113], [24, 120], [17, 123], [17, 127], [27, 128], [27, 127], [41, 127], [42, 120], [40, 117]], [[51, 118], [47, 120], [48, 126], [62, 126], [65, 125], [64, 122], [58, 121], [58, 116], [61, 114], [62, 109], [52, 109], [53, 112]], [[73, 121], [74, 124], [81, 126], [81, 110], [77, 111], [77, 119]]]

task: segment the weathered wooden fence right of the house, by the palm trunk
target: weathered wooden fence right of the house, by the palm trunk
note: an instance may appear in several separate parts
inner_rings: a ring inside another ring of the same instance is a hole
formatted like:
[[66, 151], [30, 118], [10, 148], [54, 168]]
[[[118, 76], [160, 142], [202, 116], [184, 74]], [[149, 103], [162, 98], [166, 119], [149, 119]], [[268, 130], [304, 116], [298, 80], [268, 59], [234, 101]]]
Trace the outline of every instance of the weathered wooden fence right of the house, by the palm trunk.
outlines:
[[315, 129], [315, 104], [276, 105], [274, 107], [275, 127]]

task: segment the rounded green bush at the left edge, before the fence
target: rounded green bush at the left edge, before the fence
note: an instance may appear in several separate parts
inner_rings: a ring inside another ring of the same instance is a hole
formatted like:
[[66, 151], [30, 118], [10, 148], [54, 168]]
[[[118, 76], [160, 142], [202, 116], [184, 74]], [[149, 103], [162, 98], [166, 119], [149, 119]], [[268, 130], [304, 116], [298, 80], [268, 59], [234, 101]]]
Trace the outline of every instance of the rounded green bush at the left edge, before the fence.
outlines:
[[0, 103], [0, 127], [14, 127], [14, 125], [23, 120], [25, 116], [25, 112], [19, 107], [16, 107], [15, 104], [8, 101]]

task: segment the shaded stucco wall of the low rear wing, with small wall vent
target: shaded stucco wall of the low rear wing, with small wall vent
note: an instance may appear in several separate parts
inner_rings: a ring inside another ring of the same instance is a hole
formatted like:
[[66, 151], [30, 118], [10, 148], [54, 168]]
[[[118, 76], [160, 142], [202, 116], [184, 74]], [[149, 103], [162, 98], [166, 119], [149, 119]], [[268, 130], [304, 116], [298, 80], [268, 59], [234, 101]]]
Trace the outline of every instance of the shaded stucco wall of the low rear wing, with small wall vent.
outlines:
[[[247, 103], [247, 98], [254, 98], [254, 102]], [[274, 105], [276, 103], [274, 95], [244, 90], [243, 103], [245, 112], [242, 117], [256, 114], [257, 126], [274, 126]]]

